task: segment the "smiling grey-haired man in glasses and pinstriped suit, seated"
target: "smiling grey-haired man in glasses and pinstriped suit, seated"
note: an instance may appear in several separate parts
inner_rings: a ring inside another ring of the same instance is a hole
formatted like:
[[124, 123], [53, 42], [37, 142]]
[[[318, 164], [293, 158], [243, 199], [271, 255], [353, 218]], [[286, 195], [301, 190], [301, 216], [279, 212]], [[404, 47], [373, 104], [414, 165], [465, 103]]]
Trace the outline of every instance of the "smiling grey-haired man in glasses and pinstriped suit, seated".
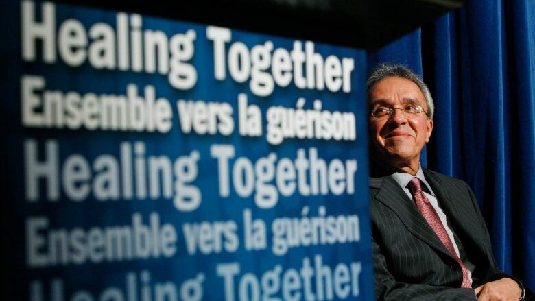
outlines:
[[400, 64], [379, 64], [366, 85], [377, 300], [527, 300], [497, 267], [468, 184], [420, 166], [433, 131], [427, 86]]

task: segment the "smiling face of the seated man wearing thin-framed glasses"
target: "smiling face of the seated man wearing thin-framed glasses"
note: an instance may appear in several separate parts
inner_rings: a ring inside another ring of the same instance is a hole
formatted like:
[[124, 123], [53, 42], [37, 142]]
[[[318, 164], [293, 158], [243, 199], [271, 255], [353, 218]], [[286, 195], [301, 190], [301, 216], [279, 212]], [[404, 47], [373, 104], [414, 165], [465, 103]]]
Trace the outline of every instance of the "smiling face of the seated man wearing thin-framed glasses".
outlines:
[[[427, 112], [420, 88], [403, 77], [383, 78], [370, 88], [368, 99], [372, 110], [378, 106], [405, 108], [414, 104]], [[370, 116], [370, 140], [375, 155], [395, 167], [418, 168], [420, 152], [433, 130], [433, 121], [427, 119], [425, 112], [405, 116], [402, 110], [394, 110], [392, 116]]]

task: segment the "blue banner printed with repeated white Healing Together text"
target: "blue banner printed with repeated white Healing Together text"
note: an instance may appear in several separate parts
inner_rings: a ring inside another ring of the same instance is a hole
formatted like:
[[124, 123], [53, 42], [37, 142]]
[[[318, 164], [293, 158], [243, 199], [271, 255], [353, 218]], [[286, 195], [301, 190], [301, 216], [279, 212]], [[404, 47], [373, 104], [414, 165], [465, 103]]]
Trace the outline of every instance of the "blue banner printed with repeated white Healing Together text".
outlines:
[[4, 300], [373, 299], [364, 51], [5, 2]]

